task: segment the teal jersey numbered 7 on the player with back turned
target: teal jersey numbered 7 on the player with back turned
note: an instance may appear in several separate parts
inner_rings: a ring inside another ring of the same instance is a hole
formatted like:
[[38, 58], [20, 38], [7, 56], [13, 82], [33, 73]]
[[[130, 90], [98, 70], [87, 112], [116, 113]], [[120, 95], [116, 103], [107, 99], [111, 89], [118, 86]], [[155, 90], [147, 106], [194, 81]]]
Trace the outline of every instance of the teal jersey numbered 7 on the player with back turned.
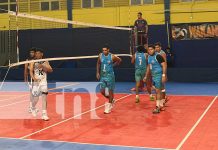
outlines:
[[145, 53], [135, 53], [135, 69], [146, 69], [146, 56]]

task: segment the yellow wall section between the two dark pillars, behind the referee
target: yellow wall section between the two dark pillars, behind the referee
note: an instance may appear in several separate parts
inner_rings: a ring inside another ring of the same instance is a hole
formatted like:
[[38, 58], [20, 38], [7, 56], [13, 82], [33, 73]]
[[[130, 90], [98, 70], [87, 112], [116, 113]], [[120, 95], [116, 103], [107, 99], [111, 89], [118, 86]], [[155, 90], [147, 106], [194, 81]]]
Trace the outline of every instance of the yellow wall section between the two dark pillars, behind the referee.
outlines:
[[163, 11], [163, 5], [147, 5], [132, 7], [108, 7], [96, 9], [73, 10], [73, 18], [77, 21], [105, 24], [111, 26], [133, 25], [137, 13], [141, 11], [149, 24], [163, 24], [164, 15], [155, 14], [153, 11]]

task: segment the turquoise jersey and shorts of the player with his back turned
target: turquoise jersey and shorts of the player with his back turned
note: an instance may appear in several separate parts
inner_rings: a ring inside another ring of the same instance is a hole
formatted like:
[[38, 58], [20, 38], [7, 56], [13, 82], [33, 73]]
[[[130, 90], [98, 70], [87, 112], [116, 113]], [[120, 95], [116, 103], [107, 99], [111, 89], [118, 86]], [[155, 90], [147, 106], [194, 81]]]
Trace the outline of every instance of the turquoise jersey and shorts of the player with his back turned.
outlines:
[[146, 56], [145, 53], [135, 53], [135, 81], [143, 80], [146, 73]]

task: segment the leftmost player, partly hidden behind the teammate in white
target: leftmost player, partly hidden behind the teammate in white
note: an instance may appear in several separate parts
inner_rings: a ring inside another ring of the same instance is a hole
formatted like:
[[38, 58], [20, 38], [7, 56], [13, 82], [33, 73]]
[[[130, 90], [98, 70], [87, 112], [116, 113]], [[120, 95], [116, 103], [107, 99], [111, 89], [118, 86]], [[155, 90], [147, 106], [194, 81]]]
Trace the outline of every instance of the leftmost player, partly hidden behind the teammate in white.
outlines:
[[[26, 61], [28, 60], [33, 60], [35, 58], [35, 51], [36, 48], [33, 47], [29, 50], [29, 56], [26, 59]], [[24, 82], [28, 83], [29, 85], [29, 81], [32, 82], [31, 77], [29, 76], [29, 69], [30, 69], [30, 64], [25, 64], [24, 66]], [[30, 89], [30, 104], [29, 104], [29, 113], [32, 112], [32, 101], [33, 101], [33, 95], [32, 95], [32, 87], [29, 85], [29, 89]]]

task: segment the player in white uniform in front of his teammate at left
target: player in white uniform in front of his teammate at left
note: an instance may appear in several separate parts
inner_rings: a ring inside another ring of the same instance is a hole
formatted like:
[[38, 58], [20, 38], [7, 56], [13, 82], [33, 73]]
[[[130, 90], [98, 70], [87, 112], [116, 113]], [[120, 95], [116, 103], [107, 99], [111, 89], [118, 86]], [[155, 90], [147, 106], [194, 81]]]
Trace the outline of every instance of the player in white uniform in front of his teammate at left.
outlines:
[[[43, 50], [36, 49], [35, 59], [43, 58]], [[37, 115], [36, 104], [39, 100], [39, 96], [42, 96], [42, 119], [47, 121], [49, 117], [47, 115], [47, 73], [52, 72], [52, 67], [48, 61], [39, 61], [30, 64], [30, 76], [33, 79], [32, 94], [34, 96], [34, 101], [32, 104], [32, 114]]]

